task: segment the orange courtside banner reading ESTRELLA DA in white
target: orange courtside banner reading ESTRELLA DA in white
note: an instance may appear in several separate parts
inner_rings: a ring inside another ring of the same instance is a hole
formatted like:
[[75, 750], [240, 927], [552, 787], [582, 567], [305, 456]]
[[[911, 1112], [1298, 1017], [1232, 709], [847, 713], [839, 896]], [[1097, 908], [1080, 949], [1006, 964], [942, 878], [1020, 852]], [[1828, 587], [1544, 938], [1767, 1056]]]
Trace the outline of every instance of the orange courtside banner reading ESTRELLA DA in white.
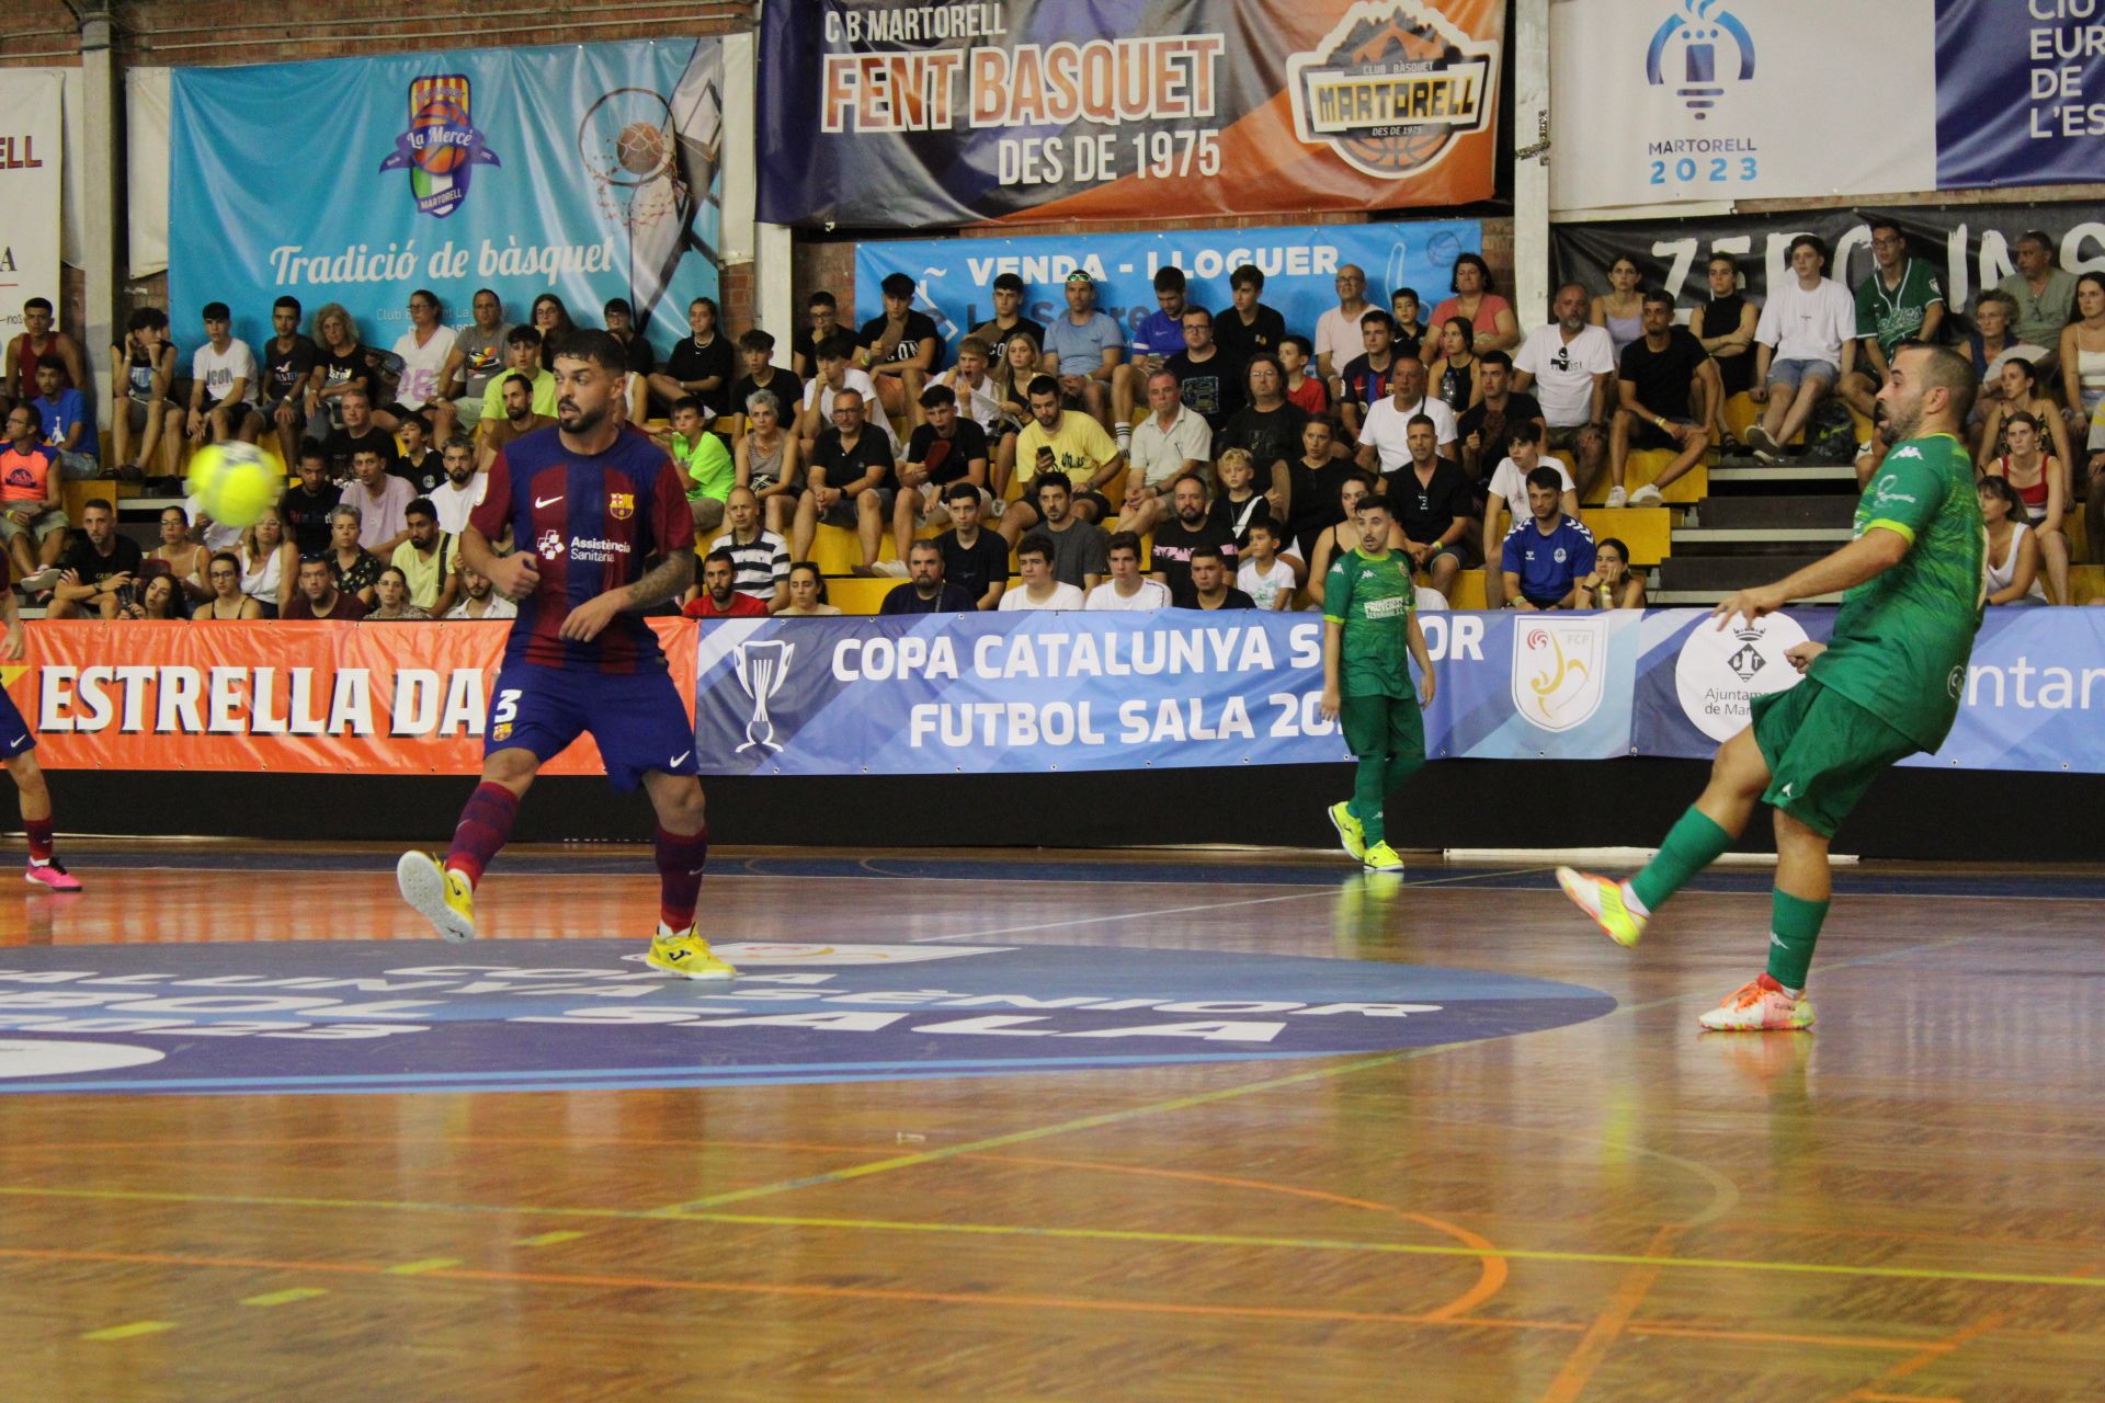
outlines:
[[[653, 618], [695, 711], [695, 625]], [[61, 770], [476, 774], [507, 623], [40, 623], [0, 669]], [[589, 736], [543, 774], [604, 774]]]

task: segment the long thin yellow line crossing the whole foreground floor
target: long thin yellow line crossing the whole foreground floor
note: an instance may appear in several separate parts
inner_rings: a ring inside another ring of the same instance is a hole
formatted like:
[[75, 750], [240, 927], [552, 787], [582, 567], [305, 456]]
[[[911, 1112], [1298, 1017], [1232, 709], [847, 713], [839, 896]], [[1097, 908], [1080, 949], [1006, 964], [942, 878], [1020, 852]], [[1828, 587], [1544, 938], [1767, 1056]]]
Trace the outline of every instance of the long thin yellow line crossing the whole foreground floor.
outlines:
[[[722, 1212], [678, 1212], [678, 1209], [621, 1209], [621, 1207], [535, 1207], [535, 1205], [484, 1205], [484, 1203], [417, 1203], [387, 1199], [276, 1199], [265, 1195], [194, 1195], [194, 1193], [143, 1193], [122, 1188], [0, 1188], [13, 1197], [53, 1199], [118, 1199], [139, 1203], [217, 1203], [238, 1207], [335, 1207], [335, 1209], [389, 1209], [425, 1214], [518, 1214], [552, 1218], [610, 1218], [627, 1222], [714, 1222], [735, 1226], [768, 1228], [836, 1228], [850, 1233], [937, 1233], [954, 1237], [1040, 1237], [1055, 1241], [1105, 1241], [1105, 1243], [1147, 1243], [1185, 1247], [1284, 1247], [1295, 1252], [1370, 1252], [1385, 1256], [1417, 1258], [1505, 1258], [1507, 1262], [1551, 1262], [1575, 1266], [1655, 1266], [1667, 1270], [1718, 1270], [1718, 1273], [1781, 1273], [1810, 1277], [1867, 1277], [1884, 1281], [1968, 1281], [1983, 1285], [2057, 1285], [2078, 1289], [2105, 1289], [2105, 1277], [2014, 1273], [2014, 1270], [1964, 1270], [1945, 1266], [1850, 1266], [1844, 1262], [1768, 1262], [1749, 1258], [1676, 1258], [1648, 1256], [1638, 1252], [1553, 1252], [1545, 1247], [1471, 1247], [1467, 1243], [1385, 1243], [1330, 1237], [1263, 1237], [1244, 1233], [1154, 1233], [1145, 1228], [1048, 1228], [1004, 1222], [916, 1222], [907, 1218], [813, 1218], [798, 1214], [722, 1214]], [[0, 1249], [0, 1256], [6, 1256]], [[457, 1266], [455, 1258], [432, 1258], [385, 1268], [396, 1277], [410, 1277], [427, 1270]]]

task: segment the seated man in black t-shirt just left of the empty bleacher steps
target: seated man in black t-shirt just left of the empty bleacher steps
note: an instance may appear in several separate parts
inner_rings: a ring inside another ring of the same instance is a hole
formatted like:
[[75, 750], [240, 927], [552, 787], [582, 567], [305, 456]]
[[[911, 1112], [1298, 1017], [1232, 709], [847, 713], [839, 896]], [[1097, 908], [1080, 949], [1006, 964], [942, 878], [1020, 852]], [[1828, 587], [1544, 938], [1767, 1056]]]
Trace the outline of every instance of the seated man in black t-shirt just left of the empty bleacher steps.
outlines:
[[[1718, 419], [1724, 383], [1718, 362], [1686, 326], [1673, 324], [1673, 299], [1646, 292], [1642, 311], [1644, 334], [1623, 347], [1617, 370], [1619, 404], [1608, 429], [1610, 507], [1657, 507], [1659, 490], [1703, 461], [1709, 452], [1709, 427]], [[1690, 404], [1695, 389], [1699, 402]], [[1671, 450], [1673, 461], [1636, 492], [1623, 490], [1623, 469], [1629, 450]]]

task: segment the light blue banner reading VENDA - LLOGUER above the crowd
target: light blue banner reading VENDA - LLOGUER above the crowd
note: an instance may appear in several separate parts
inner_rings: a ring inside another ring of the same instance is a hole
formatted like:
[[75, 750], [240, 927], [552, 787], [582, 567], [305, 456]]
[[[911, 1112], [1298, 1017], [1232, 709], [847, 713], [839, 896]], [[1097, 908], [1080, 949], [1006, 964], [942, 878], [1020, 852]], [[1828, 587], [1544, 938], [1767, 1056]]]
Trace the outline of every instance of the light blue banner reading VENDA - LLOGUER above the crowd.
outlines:
[[1396, 288], [1417, 288], [1431, 307], [1448, 294], [1457, 255], [1482, 250], [1484, 225], [1474, 219], [863, 242], [855, 250], [855, 316], [884, 316], [878, 284], [886, 273], [911, 273], [916, 305], [935, 316], [956, 351], [958, 337], [994, 318], [991, 288], [1002, 273], [1023, 278], [1023, 316], [1050, 322], [1067, 311], [1067, 273], [1082, 269], [1097, 282], [1097, 309], [1132, 330], [1156, 311], [1156, 269], [1181, 267], [1191, 305], [1219, 313], [1229, 305], [1227, 276], [1252, 263], [1265, 276], [1265, 305], [1286, 318], [1288, 330], [1314, 337], [1316, 318], [1337, 307], [1339, 265], [1356, 263], [1366, 273], [1366, 297], [1377, 307], [1387, 307]]

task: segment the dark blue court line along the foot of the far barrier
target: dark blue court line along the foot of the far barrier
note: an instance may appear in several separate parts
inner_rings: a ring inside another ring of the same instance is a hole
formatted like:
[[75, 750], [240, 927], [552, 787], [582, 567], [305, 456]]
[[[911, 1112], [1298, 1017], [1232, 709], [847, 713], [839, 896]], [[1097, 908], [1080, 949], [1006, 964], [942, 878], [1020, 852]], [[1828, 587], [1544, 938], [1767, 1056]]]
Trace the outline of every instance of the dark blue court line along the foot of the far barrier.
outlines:
[[[175, 869], [175, 871], [394, 871], [396, 858], [377, 852], [93, 852], [74, 867], [93, 869]], [[537, 877], [636, 875], [655, 877], [657, 867], [646, 856], [589, 856], [570, 852], [499, 858], [493, 875]], [[1343, 860], [1324, 862], [1223, 862], [1200, 858], [1191, 862], [1126, 862], [1126, 860], [1057, 860], [1034, 862], [1017, 858], [718, 858], [709, 877], [867, 877], [871, 881], [1101, 881], [1101, 883], [1185, 883], [1185, 886], [1282, 886], [1326, 888], [1358, 875]], [[1438, 883], [1495, 892], [1547, 892], [1556, 877], [1547, 867], [1501, 865], [1486, 869], [1412, 867], [1410, 886]], [[1766, 869], [1709, 871], [1686, 890], [1692, 892], [1768, 892], [1775, 881]], [[2036, 875], [1947, 875], [1947, 873], [1836, 873], [1842, 896], [1996, 896], [2006, 900], [2059, 898], [2105, 900], [2105, 873], [2036, 873]]]

